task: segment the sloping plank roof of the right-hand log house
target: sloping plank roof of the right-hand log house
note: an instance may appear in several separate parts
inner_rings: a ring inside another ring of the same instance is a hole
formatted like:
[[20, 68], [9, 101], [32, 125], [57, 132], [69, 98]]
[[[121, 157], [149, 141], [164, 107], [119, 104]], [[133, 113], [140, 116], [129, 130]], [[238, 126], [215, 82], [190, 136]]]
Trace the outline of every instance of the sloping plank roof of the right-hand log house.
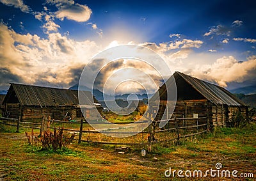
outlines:
[[[207, 83], [180, 72], [175, 72], [170, 79], [168, 79], [168, 81], [166, 81], [166, 83], [159, 88], [158, 92], [161, 100], [163, 100], [164, 95], [166, 95], [166, 86], [172, 86], [174, 81], [177, 87], [177, 99], [179, 99], [180, 96], [179, 91], [184, 91], [181, 89], [184, 88], [184, 85], [181, 84], [187, 84], [186, 88], [193, 89], [193, 95], [187, 94], [186, 98], [192, 97], [191, 99], [195, 99], [195, 94], [198, 94], [216, 105], [223, 104], [227, 106], [246, 106], [243, 101], [239, 100], [239, 98], [230, 93], [228, 90], [225, 90], [225, 88]], [[198, 95], [196, 96], [198, 97]], [[156, 98], [156, 96], [153, 96], [152, 98]]]

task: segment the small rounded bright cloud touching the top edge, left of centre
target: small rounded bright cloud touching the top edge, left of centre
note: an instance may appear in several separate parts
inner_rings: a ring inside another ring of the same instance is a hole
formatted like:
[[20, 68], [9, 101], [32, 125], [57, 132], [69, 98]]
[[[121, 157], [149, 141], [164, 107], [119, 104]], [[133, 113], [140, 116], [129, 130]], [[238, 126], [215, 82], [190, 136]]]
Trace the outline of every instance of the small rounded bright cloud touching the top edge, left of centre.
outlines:
[[75, 3], [73, 0], [47, 0], [46, 2], [56, 5], [58, 11], [55, 12], [55, 15], [61, 20], [67, 18], [77, 22], [86, 22], [92, 14], [92, 10], [88, 6]]

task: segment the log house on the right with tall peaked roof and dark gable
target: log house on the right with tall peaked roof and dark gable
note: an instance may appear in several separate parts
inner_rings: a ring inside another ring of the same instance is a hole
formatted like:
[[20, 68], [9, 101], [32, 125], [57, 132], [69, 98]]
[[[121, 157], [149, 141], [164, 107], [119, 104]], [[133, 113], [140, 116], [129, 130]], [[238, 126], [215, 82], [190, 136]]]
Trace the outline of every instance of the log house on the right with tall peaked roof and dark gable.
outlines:
[[[166, 101], [166, 87], [173, 84], [176, 84], [177, 88], [176, 103]], [[159, 88], [158, 93], [160, 102], [159, 109], [156, 111], [156, 120], [170, 118], [170, 115], [167, 115], [168, 111], [164, 113], [164, 110], [166, 107], [170, 109], [173, 106], [175, 106], [174, 113], [177, 117], [195, 118], [207, 116], [211, 127], [230, 125], [232, 116], [237, 111], [240, 111], [244, 116], [248, 115], [248, 106], [232, 93], [225, 90], [225, 88], [180, 72], [175, 72]], [[156, 95], [150, 101], [155, 101], [154, 99], [156, 99]]]

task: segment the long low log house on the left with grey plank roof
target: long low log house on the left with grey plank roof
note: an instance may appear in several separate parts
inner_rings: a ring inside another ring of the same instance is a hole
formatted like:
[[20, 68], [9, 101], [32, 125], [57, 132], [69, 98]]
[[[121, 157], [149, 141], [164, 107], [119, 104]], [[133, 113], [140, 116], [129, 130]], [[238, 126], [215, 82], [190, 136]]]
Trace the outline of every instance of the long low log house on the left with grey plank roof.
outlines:
[[[87, 97], [93, 97], [90, 91], [83, 93]], [[92, 107], [96, 105], [99, 111], [102, 108], [94, 97], [93, 100], [90, 104], [83, 105], [83, 111], [86, 111], [84, 115], [90, 120], [99, 120]], [[83, 118], [77, 90], [12, 83], [3, 104], [4, 116], [21, 120], [41, 120], [43, 115], [51, 116], [54, 120]]]

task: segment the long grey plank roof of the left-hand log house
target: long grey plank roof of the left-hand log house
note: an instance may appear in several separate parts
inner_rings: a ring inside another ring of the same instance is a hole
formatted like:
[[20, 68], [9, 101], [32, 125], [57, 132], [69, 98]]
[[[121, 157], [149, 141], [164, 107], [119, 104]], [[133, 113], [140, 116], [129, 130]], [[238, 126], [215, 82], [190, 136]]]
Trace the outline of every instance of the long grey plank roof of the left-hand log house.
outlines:
[[[93, 97], [90, 91], [83, 91], [83, 93], [89, 98]], [[14, 83], [11, 84], [4, 102], [40, 107], [79, 105], [77, 90]], [[90, 104], [93, 105], [93, 102]]]

